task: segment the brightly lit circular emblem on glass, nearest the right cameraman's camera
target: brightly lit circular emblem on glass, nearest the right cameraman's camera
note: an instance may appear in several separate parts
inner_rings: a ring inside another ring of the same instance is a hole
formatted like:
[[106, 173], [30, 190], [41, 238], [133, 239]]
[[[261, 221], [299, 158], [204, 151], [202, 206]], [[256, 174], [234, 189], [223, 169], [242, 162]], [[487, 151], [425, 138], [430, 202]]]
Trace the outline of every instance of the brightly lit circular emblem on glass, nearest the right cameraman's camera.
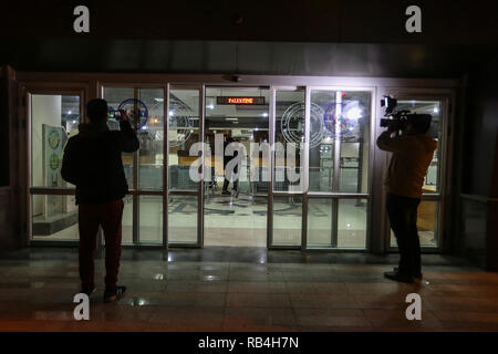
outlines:
[[342, 138], [353, 133], [361, 117], [362, 110], [357, 102], [332, 103], [325, 108], [323, 124], [334, 137]]

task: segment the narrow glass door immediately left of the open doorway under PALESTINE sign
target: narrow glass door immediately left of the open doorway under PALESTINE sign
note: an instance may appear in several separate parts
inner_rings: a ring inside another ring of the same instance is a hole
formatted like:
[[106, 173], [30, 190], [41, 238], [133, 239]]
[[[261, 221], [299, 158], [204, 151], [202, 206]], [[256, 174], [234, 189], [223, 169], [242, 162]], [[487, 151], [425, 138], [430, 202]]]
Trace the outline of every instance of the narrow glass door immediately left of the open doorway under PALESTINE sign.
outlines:
[[196, 86], [168, 90], [167, 242], [203, 244], [204, 93]]

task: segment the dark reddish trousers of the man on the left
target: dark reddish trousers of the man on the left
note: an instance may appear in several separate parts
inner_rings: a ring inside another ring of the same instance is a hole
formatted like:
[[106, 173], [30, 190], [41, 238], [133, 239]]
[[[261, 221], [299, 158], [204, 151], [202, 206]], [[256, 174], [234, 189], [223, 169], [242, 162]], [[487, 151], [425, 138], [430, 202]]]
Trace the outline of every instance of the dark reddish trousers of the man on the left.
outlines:
[[77, 211], [80, 229], [80, 279], [83, 289], [94, 287], [94, 252], [98, 226], [105, 237], [105, 289], [114, 291], [117, 284], [121, 259], [121, 221], [123, 199], [100, 205], [80, 205]]

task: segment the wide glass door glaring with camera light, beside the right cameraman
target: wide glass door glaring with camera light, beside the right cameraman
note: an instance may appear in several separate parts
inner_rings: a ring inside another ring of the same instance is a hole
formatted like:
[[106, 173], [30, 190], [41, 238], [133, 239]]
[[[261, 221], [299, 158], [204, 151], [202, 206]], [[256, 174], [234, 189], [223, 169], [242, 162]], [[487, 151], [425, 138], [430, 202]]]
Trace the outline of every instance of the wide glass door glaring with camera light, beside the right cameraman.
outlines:
[[307, 87], [303, 248], [367, 248], [373, 112], [370, 88]]

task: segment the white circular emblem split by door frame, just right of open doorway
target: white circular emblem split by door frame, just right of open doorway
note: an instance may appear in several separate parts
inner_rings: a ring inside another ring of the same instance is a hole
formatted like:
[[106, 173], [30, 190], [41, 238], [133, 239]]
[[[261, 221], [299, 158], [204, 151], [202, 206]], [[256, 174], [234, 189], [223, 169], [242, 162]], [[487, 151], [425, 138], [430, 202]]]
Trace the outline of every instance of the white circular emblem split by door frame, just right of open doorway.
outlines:
[[[315, 147], [323, 138], [323, 110], [314, 103], [310, 108], [310, 147]], [[280, 127], [289, 144], [304, 144], [304, 103], [297, 102], [282, 114]]]

